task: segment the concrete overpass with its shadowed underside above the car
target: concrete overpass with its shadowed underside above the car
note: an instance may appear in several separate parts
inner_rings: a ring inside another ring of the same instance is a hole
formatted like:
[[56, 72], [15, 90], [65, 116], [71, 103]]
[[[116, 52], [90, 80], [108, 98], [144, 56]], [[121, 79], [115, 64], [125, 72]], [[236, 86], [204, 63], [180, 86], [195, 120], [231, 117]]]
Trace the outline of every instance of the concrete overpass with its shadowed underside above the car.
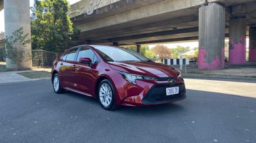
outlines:
[[[72, 16], [71, 19], [74, 25], [82, 30], [79, 44], [117, 42], [119, 45], [139, 45], [188, 42], [199, 39], [199, 6], [204, 2], [122, 0], [94, 10], [90, 15], [83, 13]], [[250, 27], [256, 26], [256, 1], [208, 2], [218, 2], [225, 6], [225, 37], [229, 35], [229, 22], [234, 15], [246, 16], [246, 35], [249, 34]], [[72, 8], [75, 9], [75, 6], [78, 7], [73, 4]]]

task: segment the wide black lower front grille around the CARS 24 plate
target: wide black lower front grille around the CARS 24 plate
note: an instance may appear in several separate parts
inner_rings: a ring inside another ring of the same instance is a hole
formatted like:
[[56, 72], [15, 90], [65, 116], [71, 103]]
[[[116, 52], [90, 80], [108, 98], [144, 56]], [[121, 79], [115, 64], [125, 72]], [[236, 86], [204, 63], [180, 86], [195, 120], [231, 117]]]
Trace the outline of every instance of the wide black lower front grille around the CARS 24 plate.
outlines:
[[[166, 88], [168, 87], [179, 87], [179, 94], [174, 94], [166, 96]], [[155, 104], [155, 103], [166, 103], [170, 101], [175, 101], [181, 99], [186, 94], [186, 88], [184, 83], [161, 83], [154, 85], [146, 96], [144, 96], [142, 102], [145, 105]]]

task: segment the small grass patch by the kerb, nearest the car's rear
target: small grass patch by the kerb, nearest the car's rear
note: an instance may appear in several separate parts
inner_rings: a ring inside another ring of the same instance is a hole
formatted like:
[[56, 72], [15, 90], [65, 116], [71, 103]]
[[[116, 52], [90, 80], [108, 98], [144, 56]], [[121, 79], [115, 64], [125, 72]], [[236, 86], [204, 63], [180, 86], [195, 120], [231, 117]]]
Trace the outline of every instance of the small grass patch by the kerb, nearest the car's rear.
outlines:
[[17, 73], [21, 76], [25, 76], [26, 78], [30, 79], [37, 79], [37, 78], [50, 78], [50, 72], [48, 71], [30, 71], [30, 72], [19, 72]]

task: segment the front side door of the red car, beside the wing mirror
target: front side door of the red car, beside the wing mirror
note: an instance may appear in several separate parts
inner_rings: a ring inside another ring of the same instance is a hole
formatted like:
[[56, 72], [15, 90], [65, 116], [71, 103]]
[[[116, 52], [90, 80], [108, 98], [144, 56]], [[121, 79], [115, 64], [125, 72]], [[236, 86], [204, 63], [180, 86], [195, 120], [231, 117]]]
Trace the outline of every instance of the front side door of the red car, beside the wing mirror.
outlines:
[[[90, 58], [92, 65], [90, 66], [90, 64], [79, 62], [79, 58], [81, 57]], [[92, 96], [94, 93], [95, 82], [99, 74], [97, 71], [97, 63], [99, 63], [99, 59], [90, 47], [84, 46], [79, 49], [74, 80], [77, 84], [77, 90], [84, 92], [88, 96]]]

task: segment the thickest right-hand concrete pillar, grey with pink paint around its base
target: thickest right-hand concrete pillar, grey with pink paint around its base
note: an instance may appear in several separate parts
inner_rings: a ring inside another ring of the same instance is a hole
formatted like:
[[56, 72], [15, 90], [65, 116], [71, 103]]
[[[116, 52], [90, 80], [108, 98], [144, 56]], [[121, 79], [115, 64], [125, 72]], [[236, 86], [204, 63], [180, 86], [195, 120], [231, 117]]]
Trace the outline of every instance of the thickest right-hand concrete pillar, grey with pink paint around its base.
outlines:
[[225, 7], [208, 3], [199, 8], [199, 69], [224, 69]]

